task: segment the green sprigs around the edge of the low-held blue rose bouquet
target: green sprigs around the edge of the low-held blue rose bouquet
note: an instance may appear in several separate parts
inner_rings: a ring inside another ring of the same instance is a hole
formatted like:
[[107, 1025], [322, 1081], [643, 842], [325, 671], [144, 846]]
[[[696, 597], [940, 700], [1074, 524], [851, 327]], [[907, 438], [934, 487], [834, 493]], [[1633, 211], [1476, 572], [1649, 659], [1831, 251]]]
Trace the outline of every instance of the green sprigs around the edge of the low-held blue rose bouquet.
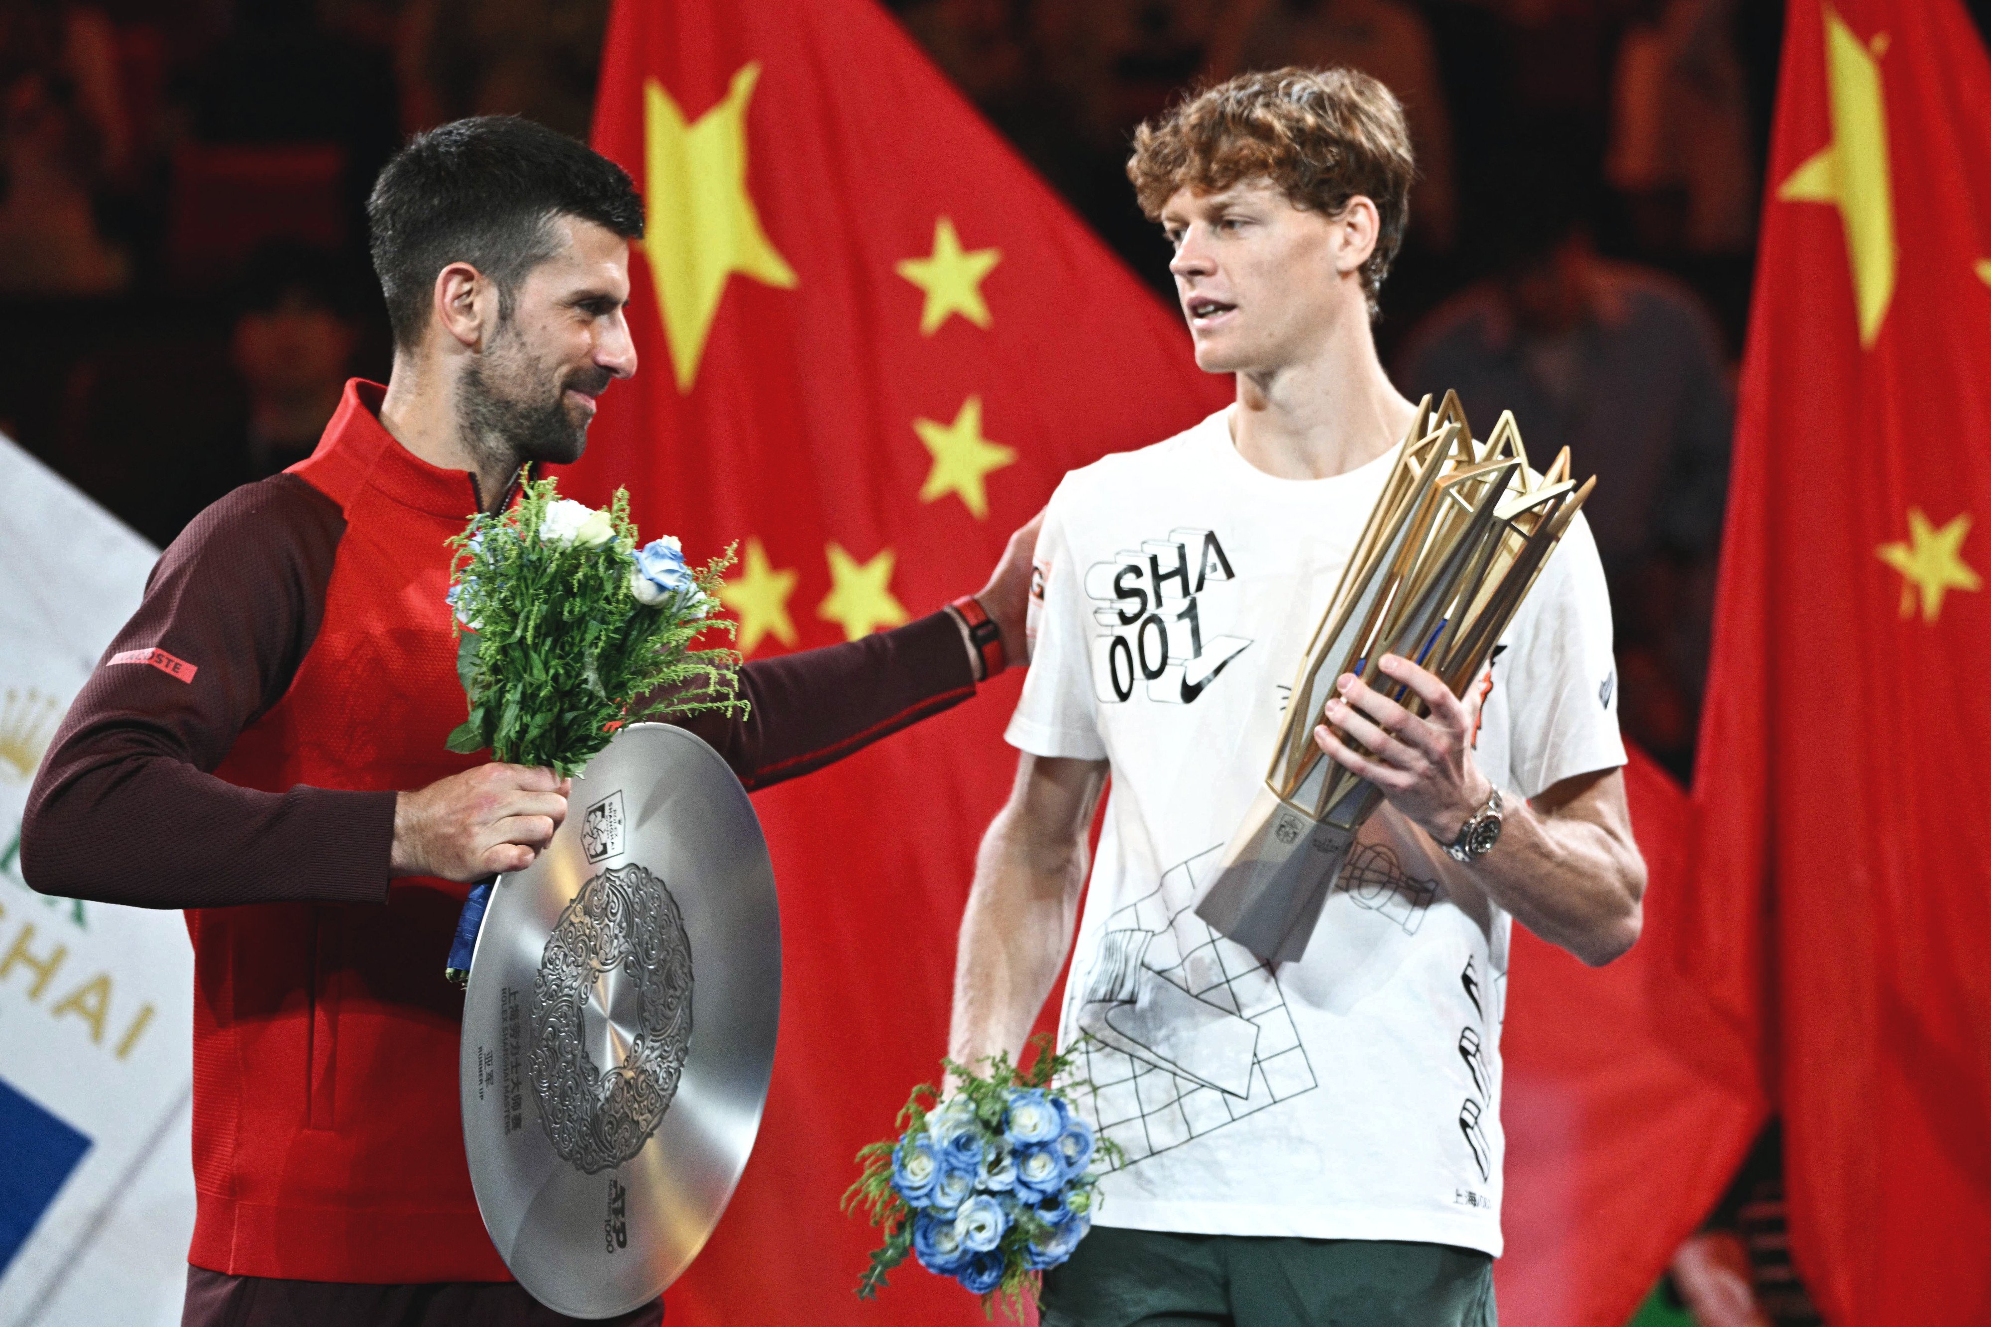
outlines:
[[[1063, 1094], [1063, 1090], [1083, 1086], [1073, 1080], [1073, 1056], [1057, 1054], [1049, 1034], [1029, 1038], [1023, 1058], [1025, 1064], [1021, 1068], [1009, 1062], [1007, 1052], [978, 1060], [976, 1064], [986, 1066], [986, 1072], [976, 1072], [954, 1060], [940, 1062], [942, 1070], [954, 1076], [956, 1096], [966, 1098], [974, 1108], [976, 1122], [986, 1140], [1001, 1138], [1009, 1092], [1013, 1088], [1045, 1088], [1053, 1094]], [[888, 1275], [912, 1255], [914, 1209], [892, 1186], [892, 1162], [902, 1144], [928, 1132], [928, 1118], [940, 1104], [940, 1084], [922, 1082], [898, 1112], [898, 1138], [874, 1142], [858, 1150], [858, 1180], [844, 1192], [842, 1209], [846, 1213], [862, 1213], [872, 1225], [884, 1229], [884, 1243], [872, 1249], [870, 1267], [858, 1277], [858, 1299], [876, 1297], [886, 1287]], [[1099, 1162], [1107, 1162], [1109, 1166], [1125, 1162], [1125, 1154], [1109, 1138], [1095, 1142], [1093, 1156], [1093, 1170], [1077, 1184], [1069, 1199], [1073, 1211], [1087, 1211], [1091, 1207], [1093, 1186], [1101, 1174]], [[1047, 1233], [1049, 1223], [1027, 1207], [1011, 1213], [1011, 1219], [1013, 1223], [1003, 1231], [1003, 1239], [997, 1245], [997, 1251], [1003, 1253], [1003, 1279], [994, 1291], [982, 1295], [982, 1311], [994, 1315], [996, 1307], [1001, 1305], [1007, 1317], [1021, 1323], [1025, 1301], [1037, 1301], [1043, 1279], [1041, 1273], [1023, 1265], [1021, 1249], [1033, 1237]]]

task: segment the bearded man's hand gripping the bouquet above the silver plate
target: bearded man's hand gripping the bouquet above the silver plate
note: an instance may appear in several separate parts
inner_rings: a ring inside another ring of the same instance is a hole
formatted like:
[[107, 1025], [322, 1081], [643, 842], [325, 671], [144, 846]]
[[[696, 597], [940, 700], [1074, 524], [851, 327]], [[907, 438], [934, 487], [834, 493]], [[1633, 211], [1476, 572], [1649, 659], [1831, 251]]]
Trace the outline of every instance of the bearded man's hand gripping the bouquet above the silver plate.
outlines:
[[573, 779], [530, 765], [478, 765], [394, 799], [392, 875], [482, 881], [532, 865], [567, 819]]

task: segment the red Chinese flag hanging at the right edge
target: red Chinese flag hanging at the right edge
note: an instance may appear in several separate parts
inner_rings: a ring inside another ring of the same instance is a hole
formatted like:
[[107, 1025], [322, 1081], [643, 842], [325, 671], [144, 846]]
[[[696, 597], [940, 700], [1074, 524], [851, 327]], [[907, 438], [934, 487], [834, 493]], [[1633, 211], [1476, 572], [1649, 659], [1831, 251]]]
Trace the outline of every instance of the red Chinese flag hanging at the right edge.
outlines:
[[1826, 1315], [1985, 1323], [1991, 64], [1955, 0], [1792, 0], [1752, 319], [1684, 958], [1770, 1028]]

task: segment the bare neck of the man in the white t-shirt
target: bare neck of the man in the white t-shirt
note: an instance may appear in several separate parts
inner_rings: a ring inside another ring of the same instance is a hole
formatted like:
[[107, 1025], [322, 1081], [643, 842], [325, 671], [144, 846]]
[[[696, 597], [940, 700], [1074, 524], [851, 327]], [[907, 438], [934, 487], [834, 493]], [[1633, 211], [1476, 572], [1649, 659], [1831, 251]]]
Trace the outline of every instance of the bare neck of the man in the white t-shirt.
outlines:
[[1314, 359], [1236, 379], [1232, 442], [1276, 478], [1348, 474], [1396, 446], [1418, 416], [1382, 371], [1366, 323]]

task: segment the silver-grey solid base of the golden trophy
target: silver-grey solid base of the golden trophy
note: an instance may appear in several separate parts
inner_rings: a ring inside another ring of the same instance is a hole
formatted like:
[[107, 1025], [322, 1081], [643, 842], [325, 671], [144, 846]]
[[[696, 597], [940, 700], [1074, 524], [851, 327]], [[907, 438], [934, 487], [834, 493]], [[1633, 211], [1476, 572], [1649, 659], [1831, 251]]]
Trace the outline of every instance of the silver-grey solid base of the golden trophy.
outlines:
[[1300, 815], [1260, 791], [1244, 825], [1224, 845], [1217, 881], [1197, 903], [1197, 917], [1272, 966], [1296, 962], [1354, 839], [1352, 829]]

